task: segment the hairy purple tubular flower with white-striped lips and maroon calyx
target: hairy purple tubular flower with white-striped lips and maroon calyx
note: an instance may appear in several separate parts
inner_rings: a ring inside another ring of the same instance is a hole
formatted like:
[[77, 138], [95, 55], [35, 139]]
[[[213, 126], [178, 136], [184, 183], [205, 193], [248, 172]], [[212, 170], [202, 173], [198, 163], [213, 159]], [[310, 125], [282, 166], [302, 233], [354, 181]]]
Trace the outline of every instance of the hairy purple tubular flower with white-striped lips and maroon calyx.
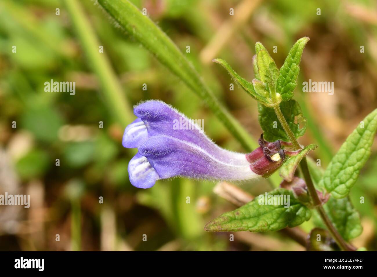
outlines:
[[[265, 142], [250, 154], [225, 150], [213, 143], [196, 122], [162, 101], [134, 107], [138, 117], [127, 126], [123, 146], [138, 148], [128, 165], [132, 185], [150, 188], [159, 179], [249, 180], [271, 174], [284, 160], [280, 142]], [[189, 127], [189, 128], [187, 128]]]

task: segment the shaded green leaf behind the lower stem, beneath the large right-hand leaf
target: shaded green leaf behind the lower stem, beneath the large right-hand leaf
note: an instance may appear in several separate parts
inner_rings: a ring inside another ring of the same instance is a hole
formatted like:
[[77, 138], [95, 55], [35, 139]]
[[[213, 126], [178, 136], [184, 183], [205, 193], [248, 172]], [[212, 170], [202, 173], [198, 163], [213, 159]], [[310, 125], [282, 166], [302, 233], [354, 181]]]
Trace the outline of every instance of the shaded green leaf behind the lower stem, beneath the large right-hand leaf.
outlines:
[[[360, 223], [360, 215], [352, 206], [348, 197], [342, 199], [330, 197], [328, 202], [323, 205], [323, 208], [343, 239], [348, 241], [362, 233], [363, 227]], [[326, 228], [318, 214], [315, 214], [313, 219], [317, 226]]]

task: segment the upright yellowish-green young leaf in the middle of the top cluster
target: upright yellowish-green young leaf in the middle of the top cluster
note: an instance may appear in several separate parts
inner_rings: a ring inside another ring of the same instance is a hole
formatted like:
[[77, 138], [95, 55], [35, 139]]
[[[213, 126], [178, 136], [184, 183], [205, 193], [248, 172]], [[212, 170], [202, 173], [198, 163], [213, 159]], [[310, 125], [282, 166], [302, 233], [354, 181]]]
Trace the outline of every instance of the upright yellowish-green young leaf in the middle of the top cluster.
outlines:
[[261, 81], [274, 88], [279, 70], [267, 50], [262, 49], [257, 53], [257, 66]]

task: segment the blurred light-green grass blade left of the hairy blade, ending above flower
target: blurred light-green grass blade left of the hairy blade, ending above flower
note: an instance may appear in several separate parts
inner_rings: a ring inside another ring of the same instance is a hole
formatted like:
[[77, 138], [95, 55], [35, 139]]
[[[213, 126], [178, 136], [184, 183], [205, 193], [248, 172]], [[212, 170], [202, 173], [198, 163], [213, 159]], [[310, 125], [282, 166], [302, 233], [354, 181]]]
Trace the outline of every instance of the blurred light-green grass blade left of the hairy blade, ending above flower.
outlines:
[[98, 42], [79, 2], [76, 0], [64, 0], [64, 3], [87, 60], [100, 81], [107, 106], [113, 112], [115, 119], [125, 127], [132, 122], [135, 116], [133, 116], [132, 107], [127, 103], [115, 72], [106, 55], [98, 51], [98, 47], [101, 44]]

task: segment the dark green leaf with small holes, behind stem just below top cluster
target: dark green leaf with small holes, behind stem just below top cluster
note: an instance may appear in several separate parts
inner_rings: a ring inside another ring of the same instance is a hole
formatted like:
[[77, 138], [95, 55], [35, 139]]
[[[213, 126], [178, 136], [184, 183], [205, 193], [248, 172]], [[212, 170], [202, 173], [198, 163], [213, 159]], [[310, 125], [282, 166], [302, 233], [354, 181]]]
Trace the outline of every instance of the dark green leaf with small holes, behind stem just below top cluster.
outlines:
[[[280, 109], [294, 136], [296, 138], [302, 136], [307, 128], [307, 121], [302, 115], [299, 103], [293, 99], [287, 102], [281, 102]], [[273, 108], [258, 104], [258, 112], [259, 125], [262, 127], [266, 141], [276, 141], [278, 139], [290, 141], [283, 127], [280, 125]], [[274, 128], [275, 126], [276, 128]]]

